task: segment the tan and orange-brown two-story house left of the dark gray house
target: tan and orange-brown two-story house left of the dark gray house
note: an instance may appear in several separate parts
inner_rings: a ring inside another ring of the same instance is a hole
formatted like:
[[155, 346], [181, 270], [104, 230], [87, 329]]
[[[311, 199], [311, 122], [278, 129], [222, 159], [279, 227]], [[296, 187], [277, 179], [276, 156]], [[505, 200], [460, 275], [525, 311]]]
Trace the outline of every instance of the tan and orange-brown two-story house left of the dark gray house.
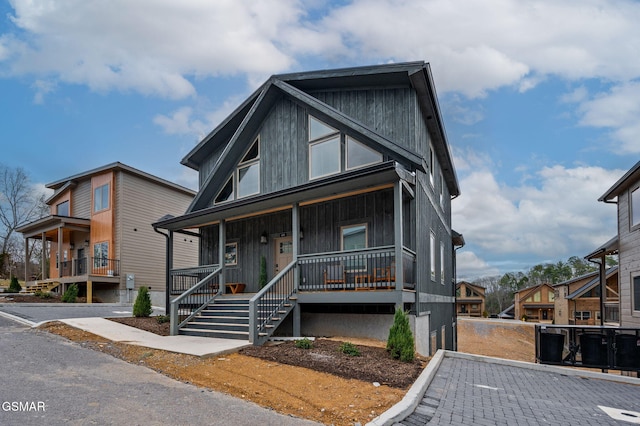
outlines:
[[[165, 306], [167, 236], [151, 224], [188, 208], [194, 191], [116, 162], [46, 185], [49, 215], [18, 228], [25, 253], [46, 242], [41, 270], [29, 273], [26, 291], [62, 293], [76, 283], [87, 302], [132, 302], [141, 286]], [[174, 239], [173, 266], [198, 260], [198, 242]], [[28, 264], [29, 262], [27, 262]]]

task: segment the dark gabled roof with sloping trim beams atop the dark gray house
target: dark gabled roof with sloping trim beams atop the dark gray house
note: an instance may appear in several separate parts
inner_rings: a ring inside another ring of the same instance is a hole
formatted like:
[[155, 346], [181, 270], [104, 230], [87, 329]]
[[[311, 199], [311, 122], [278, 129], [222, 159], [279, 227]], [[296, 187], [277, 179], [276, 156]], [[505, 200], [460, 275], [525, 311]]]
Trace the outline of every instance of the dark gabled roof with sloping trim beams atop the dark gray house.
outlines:
[[413, 87], [418, 94], [420, 109], [432, 135], [432, 143], [436, 147], [435, 152], [449, 193], [453, 197], [458, 196], [458, 181], [432, 81], [429, 64], [425, 62], [272, 76], [182, 159], [183, 165], [199, 170], [214, 151], [224, 146], [216, 164], [211, 168], [212, 172], [201, 183], [200, 191], [187, 211], [206, 207], [207, 201], [215, 196], [214, 192], [219, 189], [219, 185], [212, 185], [212, 182], [222, 184], [221, 180], [227, 178], [235, 166], [235, 160], [247, 148], [238, 141], [247, 141], [257, 133], [266, 115], [282, 97], [310, 109], [329, 125], [348, 129], [349, 133], [358, 137], [361, 142], [391, 155], [396, 161], [425, 170], [425, 160], [419, 154], [401, 147], [308, 93], [346, 88]]

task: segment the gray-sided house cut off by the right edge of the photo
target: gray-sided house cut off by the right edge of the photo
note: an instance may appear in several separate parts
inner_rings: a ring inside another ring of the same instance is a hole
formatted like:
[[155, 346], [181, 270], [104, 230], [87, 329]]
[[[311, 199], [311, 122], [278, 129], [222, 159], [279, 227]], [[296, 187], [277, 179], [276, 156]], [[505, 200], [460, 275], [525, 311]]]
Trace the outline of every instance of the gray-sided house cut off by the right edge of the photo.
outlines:
[[620, 326], [640, 327], [640, 162], [598, 201], [617, 205], [618, 235], [589, 257], [604, 263], [606, 255], [618, 253]]

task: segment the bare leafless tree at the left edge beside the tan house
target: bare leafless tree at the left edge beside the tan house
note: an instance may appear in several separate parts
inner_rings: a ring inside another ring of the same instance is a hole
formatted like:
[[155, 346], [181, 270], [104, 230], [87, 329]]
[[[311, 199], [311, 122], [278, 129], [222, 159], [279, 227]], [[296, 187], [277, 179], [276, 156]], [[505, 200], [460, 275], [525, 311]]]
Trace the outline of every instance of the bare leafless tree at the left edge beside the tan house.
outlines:
[[44, 197], [33, 188], [24, 169], [0, 164], [0, 276], [6, 276], [12, 264], [16, 229], [45, 214]]

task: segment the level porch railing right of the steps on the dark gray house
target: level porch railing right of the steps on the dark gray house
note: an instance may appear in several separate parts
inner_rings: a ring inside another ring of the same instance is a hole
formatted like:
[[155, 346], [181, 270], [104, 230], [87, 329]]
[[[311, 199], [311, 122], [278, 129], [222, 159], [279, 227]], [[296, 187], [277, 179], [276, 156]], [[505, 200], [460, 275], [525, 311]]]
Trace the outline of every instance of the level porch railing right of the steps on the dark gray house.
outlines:
[[[393, 246], [298, 256], [300, 291], [396, 288]], [[403, 288], [414, 289], [415, 254], [403, 250]]]

